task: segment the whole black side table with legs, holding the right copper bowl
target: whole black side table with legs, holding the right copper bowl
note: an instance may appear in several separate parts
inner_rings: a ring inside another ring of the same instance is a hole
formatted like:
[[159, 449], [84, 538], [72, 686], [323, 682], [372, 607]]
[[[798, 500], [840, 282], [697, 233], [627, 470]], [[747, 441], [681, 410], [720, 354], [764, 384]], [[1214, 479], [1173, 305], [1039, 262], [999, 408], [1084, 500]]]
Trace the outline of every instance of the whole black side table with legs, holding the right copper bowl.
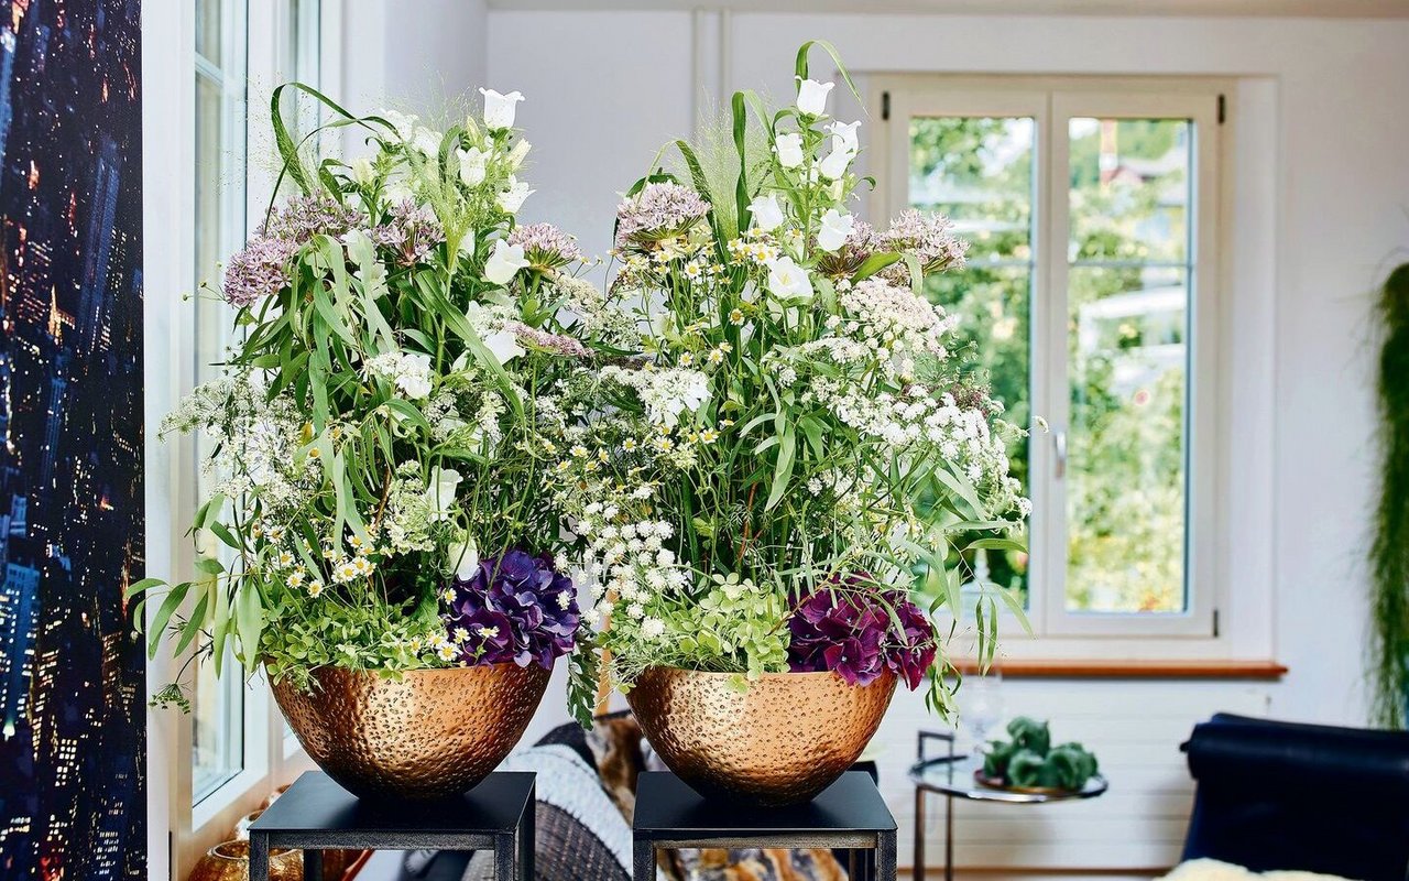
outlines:
[[790, 808], [706, 801], [674, 774], [641, 774], [631, 837], [634, 881], [654, 881], [657, 847], [838, 847], [852, 881], [895, 881], [895, 818], [864, 771]]

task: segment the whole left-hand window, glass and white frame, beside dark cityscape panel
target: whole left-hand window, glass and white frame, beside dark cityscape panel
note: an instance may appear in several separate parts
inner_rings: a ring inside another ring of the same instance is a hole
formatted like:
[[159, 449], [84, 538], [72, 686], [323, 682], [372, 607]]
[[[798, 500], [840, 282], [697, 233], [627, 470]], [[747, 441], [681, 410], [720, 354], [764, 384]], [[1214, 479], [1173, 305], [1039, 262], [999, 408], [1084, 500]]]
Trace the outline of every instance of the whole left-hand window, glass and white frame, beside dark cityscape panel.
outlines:
[[[231, 341], [231, 313], [218, 296], [192, 297], [201, 283], [218, 289], [220, 266], [259, 224], [275, 185], [269, 94], [278, 83], [299, 79], [314, 87], [340, 76], [338, 0], [197, 0], [168, 17], [144, 20], [144, 41], [172, 47], [155, 55], [161, 76], [144, 82], [147, 148], [186, 173], [152, 175], [144, 187], [148, 224], [170, 231], [172, 242], [154, 247], [147, 261], [148, 405], [147, 427], [190, 386], [216, 375]], [[327, 48], [327, 49], [325, 49]], [[316, 103], [290, 97], [294, 127], [311, 131], [320, 121]], [[172, 133], [189, 133], [170, 138]], [[179, 144], [166, 144], [166, 140]], [[152, 328], [156, 328], [154, 333]], [[199, 438], [170, 438], [148, 447], [163, 505], [149, 507], [148, 547], [154, 574], [182, 577], [193, 567], [185, 534], [209, 478], [199, 462]], [[227, 840], [238, 819], [258, 808], [278, 785], [310, 767], [296, 740], [285, 736], [268, 686], [247, 684], [227, 658], [221, 677], [204, 663], [194, 672], [193, 712], [154, 712], [148, 719], [152, 798], [148, 822], [170, 833], [170, 853], [152, 840], [154, 871], [185, 877], [213, 844]], [[180, 660], [152, 663], [149, 684], [178, 677]], [[189, 671], [182, 675], [190, 681]], [[189, 756], [186, 754], [189, 751]], [[180, 756], [179, 761], [172, 761]], [[166, 798], [162, 798], [162, 794]], [[169, 868], [169, 871], [168, 871]]]

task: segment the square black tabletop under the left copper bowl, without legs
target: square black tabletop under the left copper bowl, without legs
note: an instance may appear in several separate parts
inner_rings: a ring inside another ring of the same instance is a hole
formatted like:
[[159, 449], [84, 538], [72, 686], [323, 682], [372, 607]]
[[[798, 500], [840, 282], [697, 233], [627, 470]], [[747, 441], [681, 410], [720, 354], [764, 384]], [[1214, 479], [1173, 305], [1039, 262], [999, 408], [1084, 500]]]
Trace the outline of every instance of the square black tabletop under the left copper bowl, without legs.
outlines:
[[533, 789], [533, 774], [496, 771], [469, 792], [438, 802], [373, 801], [359, 799], [323, 771], [307, 771], [259, 815], [249, 830], [513, 834]]

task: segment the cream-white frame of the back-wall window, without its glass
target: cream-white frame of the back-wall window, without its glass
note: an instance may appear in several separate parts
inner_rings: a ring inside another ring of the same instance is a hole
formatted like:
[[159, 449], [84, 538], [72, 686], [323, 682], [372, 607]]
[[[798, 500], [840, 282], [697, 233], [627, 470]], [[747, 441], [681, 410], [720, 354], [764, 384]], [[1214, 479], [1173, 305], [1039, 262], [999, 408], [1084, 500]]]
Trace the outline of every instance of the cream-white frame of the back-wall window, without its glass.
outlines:
[[[868, 76], [874, 147], [868, 171], [876, 179], [869, 210], [883, 220], [909, 204], [909, 123], [924, 116], [1030, 117], [1034, 127], [1033, 235], [1036, 259], [1031, 282], [1031, 409], [1044, 416], [1051, 433], [1034, 431], [1030, 447], [1034, 505], [1041, 516], [1031, 523], [1034, 567], [1029, 581], [1029, 620], [1033, 639], [1022, 634], [1012, 616], [1002, 623], [1003, 654], [1038, 657], [1234, 657], [1241, 654], [1220, 620], [1227, 606], [1220, 571], [1226, 561], [1219, 546], [1224, 505], [1219, 499], [1220, 472], [1229, 452], [1220, 438], [1220, 400], [1227, 390], [1219, 364], [1227, 345], [1227, 313], [1220, 290], [1227, 275], [1222, 217], [1227, 209], [1222, 175], [1231, 155], [1223, 124], [1227, 94], [1236, 83], [1215, 78], [1153, 76]], [[1057, 438], [1067, 429], [1067, 271], [1069, 199], [1068, 120], [1188, 118], [1195, 124], [1193, 268], [1189, 276], [1189, 421], [1186, 448], [1186, 589], [1182, 615], [1069, 613], [1065, 609], [1065, 493], [1055, 476]], [[1058, 173], [1057, 169], [1061, 169]], [[1055, 242], [1055, 247], [1050, 247]], [[1226, 547], [1226, 543], [1224, 543]], [[1251, 622], [1246, 630], [1257, 632]]]

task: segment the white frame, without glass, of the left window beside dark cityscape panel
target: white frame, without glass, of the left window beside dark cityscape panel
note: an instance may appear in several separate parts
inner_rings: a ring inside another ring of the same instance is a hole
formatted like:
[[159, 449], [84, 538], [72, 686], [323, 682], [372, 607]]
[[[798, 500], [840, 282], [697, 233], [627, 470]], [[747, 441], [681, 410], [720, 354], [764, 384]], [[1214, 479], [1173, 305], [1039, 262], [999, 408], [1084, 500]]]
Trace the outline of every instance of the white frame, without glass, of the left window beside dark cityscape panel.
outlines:
[[[268, 128], [269, 92], [285, 76], [287, 55], [287, 0], [249, 0], [247, 96], [248, 130]], [[154, 577], [180, 581], [193, 571], [186, 529], [196, 509], [194, 444], [190, 438], [158, 437], [165, 413], [196, 382], [199, 359], [217, 354], [200, 350], [216, 345], [209, 324], [197, 320], [185, 300], [196, 278], [190, 242], [194, 241], [194, 6], [179, 4], [169, 16], [142, 18], [142, 154], [148, 169], [144, 186], [145, 278], [145, 461], [147, 461], [147, 560]], [[344, 0], [320, 0], [317, 75], [337, 90], [342, 79]], [[311, 37], [310, 37], [311, 38]], [[266, 137], [249, 137], [245, 186], [245, 226], [263, 218], [276, 173], [261, 151], [272, 148]], [[159, 169], [187, 169], [161, 173]], [[207, 310], [214, 312], [214, 310]], [[197, 340], [200, 343], [197, 344]], [[155, 612], [149, 603], [148, 622]], [[159, 653], [148, 664], [148, 694], [173, 681], [182, 658]], [[240, 818], [259, 808], [279, 785], [290, 782], [311, 761], [296, 739], [286, 737], [283, 717], [262, 675], [240, 682], [238, 670], [227, 678], [244, 696], [244, 768], [199, 803], [192, 799], [192, 717], [178, 710], [149, 709], [148, 726], [148, 867], [151, 878], [185, 878], [214, 844], [227, 840]]]

